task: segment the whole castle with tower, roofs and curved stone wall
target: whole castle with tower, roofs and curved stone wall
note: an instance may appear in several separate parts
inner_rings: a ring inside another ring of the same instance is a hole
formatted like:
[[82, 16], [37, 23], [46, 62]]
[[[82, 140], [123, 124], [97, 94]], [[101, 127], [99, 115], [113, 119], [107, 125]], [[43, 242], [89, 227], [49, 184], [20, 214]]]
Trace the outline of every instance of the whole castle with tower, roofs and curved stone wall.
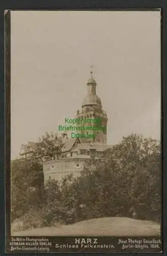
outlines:
[[[73, 174], [77, 177], [82, 172], [85, 163], [89, 163], [92, 159], [104, 160], [104, 151], [112, 145], [107, 145], [107, 114], [102, 109], [100, 98], [96, 94], [97, 83], [93, 78], [87, 82], [87, 96], [81, 105], [81, 110], [77, 110], [75, 118], [92, 119], [100, 118], [101, 126], [106, 127], [102, 131], [93, 129], [93, 131], [85, 131], [85, 129], [77, 133], [94, 134], [90, 138], [68, 138], [66, 133], [62, 134], [64, 146], [62, 148], [62, 157], [55, 160], [45, 161], [43, 163], [44, 183], [54, 178], [61, 180], [67, 174]], [[79, 126], [90, 126], [90, 123], [77, 124]], [[97, 123], [93, 124], [97, 126]], [[37, 148], [37, 143], [29, 142], [28, 145], [22, 145], [20, 158], [28, 157], [33, 154]]]

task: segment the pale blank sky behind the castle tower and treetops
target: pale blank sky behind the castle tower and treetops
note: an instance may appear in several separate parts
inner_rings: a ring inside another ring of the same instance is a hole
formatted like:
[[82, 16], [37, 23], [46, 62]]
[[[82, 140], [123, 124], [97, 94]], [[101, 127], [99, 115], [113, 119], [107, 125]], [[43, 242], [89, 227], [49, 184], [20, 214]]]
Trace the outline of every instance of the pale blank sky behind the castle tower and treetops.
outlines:
[[90, 66], [107, 143], [131, 133], [160, 139], [160, 12], [12, 11], [12, 159], [75, 117]]

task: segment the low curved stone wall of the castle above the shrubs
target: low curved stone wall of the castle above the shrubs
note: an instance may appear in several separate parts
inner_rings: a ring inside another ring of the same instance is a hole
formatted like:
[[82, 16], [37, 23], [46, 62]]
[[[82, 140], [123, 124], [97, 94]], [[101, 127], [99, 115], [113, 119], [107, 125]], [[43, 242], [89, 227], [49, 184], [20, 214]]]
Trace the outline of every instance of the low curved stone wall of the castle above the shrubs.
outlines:
[[84, 168], [84, 164], [91, 159], [60, 159], [45, 162], [43, 164], [44, 184], [49, 178], [61, 181], [62, 177], [73, 173], [78, 177]]

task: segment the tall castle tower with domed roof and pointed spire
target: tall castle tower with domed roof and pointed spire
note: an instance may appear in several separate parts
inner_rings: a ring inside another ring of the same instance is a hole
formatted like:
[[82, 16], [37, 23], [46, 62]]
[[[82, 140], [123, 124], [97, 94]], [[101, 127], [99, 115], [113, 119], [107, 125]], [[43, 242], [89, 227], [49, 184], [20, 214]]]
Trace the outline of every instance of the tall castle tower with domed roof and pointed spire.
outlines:
[[[94, 138], [80, 138], [81, 143], [84, 142], [93, 142], [93, 143], [104, 143], [106, 144], [106, 130], [107, 130], [107, 115], [106, 112], [102, 110], [101, 100], [96, 95], [96, 86], [97, 83], [93, 78], [93, 72], [91, 71], [91, 78], [87, 83], [87, 96], [85, 97], [82, 103], [81, 111], [77, 110], [77, 115], [75, 118], [78, 119], [99, 119], [100, 121], [97, 123], [84, 123], [78, 124], [78, 126], [92, 126], [92, 127], [103, 127], [102, 131], [94, 130], [93, 131], [80, 131], [80, 133], [89, 133], [94, 134]], [[78, 132], [79, 133], [79, 132]]]

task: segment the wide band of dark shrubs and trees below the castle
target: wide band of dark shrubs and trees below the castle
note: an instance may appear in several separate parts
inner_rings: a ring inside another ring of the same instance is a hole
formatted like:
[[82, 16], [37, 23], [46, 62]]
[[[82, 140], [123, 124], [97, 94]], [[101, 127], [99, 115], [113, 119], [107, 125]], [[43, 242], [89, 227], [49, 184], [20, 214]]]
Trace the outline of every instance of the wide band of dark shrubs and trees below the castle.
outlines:
[[79, 178], [49, 180], [45, 188], [42, 165], [14, 161], [12, 220], [22, 216], [24, 228], [114, 216], [159, 222], [160, 143], [131, 135], [105, 153], [107, 161], [92, 161]]

